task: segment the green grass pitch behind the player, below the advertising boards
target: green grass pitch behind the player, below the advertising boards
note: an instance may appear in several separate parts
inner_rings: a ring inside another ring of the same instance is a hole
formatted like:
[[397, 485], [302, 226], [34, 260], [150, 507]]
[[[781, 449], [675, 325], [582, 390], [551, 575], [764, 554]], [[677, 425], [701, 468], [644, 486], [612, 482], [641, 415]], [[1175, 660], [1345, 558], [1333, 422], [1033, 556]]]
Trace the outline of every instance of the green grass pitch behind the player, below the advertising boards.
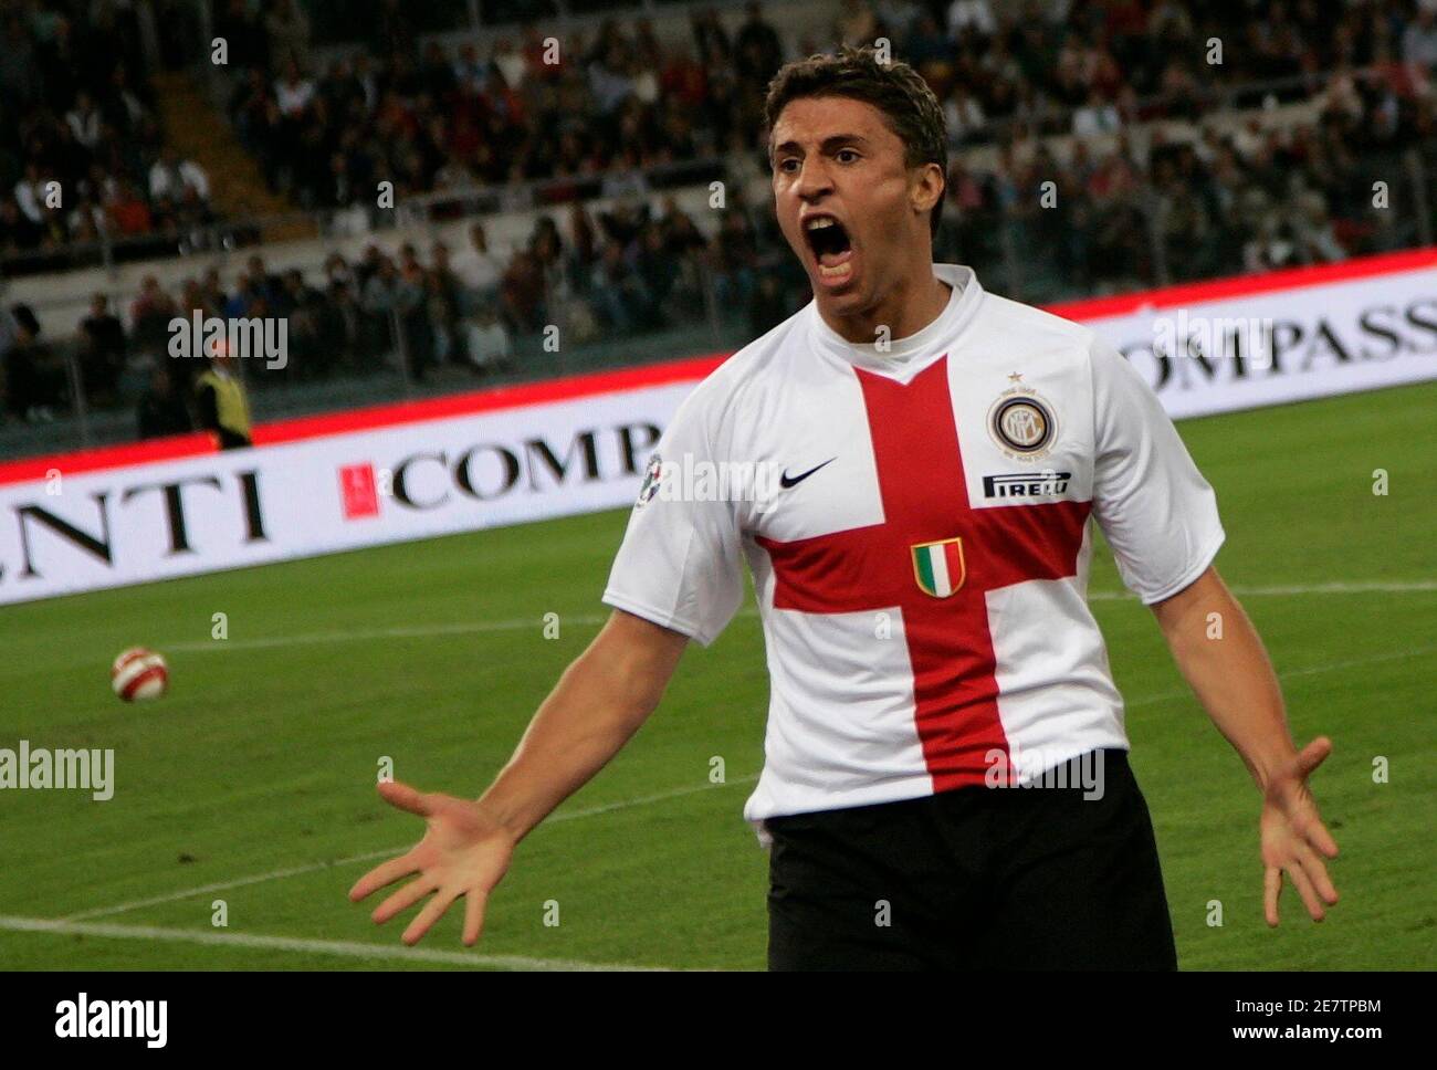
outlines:
[[[1293, 730], [1336, 745], [1315, 778], [1342, 846], [1342, 902], [1322, 925], [1289, 889], [1267, 931], [1259, 796], [1242, 763], [1186, 694], [1148, 610], [1094, 603], [1186, 968], [1437, 965], [1434, 411], [1437, 385], [1424, 385], [1181, 425], [1217, 487], [1219, 566], [1249, 592]], [[660, 711], [568, 817], [520, 846], [474, 952], [451, 911], [420, 945], [444, 957], [404, 958], [404, 922], [375, 928], [345, 898], [372, 863], [325, 865], [420, 833], [375, 796], [381, 757], [422, 788], [489, 783], [596, 632], [624, 523], [605, 513], [0, 609], [0, 747], [116, 753], [111, 801], [0, 791], [0, 967], [762, 968], [766, 856], [740, 817], [767, 695], [752, 597], [711, 649], [685, 655]], [[1341, 583], [1407, 589], [1311, 590]], [[1105, 552], [1092, 589], [1119, 589]], [[558, 639], [542, 635], [550, 612]], [[228, 616], [227, 641], [210, 638], [214, 613]], [[161, 702], [109, 692], [111, 659], [135, 643], [170, 658]], [[708, 783], [716, 755], [727, 784]], [[1378, 757], [1387, 784], [1372, 780]], [[180, 895], [205, 885], [230, 886]], [[227, 928], [211, 925], [217, 899]], [[1220, 928], [1207, 924], [1214, 901]], [[550, 902], [558, 926], [545, 925]], [[76, 931], [14, 928], [75, 915]], [[382, 957], [355, 954], [366, 946]]]

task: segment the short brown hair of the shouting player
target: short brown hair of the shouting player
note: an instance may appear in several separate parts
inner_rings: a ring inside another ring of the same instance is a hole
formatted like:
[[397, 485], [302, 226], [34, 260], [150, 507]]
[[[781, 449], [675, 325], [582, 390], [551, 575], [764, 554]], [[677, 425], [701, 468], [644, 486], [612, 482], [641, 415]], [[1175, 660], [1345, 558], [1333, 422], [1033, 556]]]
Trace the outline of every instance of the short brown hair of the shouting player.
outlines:
[[[871, 103], [888, 119], [888, 128], [904, 144], [908, 167], [937, 164], [948, 180], [948, 126], [938, 98], [917, 70], [901, 60], [881, 63], [869, 47], [844, 45], [836, 53], [816, 55], [783, 66], [769, 82], [764, 113], [772, 132], [779, 113], [793, 101], [805, 96], [846, 96]], [[772, 162], [772, 159], [770, 159]], [[937, 237], [943, 197], [930, 213], [930, 233]]]

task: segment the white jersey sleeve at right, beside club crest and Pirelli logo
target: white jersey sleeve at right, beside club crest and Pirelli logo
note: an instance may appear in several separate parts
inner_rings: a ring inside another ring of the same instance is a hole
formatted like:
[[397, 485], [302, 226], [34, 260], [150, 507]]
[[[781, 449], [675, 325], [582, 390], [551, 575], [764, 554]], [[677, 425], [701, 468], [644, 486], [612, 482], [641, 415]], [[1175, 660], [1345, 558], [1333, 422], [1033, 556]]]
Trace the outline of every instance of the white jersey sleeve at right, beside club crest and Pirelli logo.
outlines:
[[1223, 544], [1217, 496], [1157, 395], [1102, 340], [1091, 348], [1094, 516], [1118, 573], [1145, 605], [1193, 583]]

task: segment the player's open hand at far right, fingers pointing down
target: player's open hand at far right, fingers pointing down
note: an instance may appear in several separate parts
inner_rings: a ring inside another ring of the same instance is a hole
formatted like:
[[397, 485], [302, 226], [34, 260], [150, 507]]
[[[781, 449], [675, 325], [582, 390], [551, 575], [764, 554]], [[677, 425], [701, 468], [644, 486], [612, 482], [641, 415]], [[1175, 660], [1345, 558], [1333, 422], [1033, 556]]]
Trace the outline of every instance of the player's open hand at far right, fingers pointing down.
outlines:
[[1318, 804], [1308, 788], [1308, 777], [1331, 753], [1332, 741], [1321, 735], [1267, 781], [1260, 822], [1267, 925], [1277, 924], [1283, 873], [1298, 889], [1312, 921], [1319, 922], [1326, 916], [1323, 902], [1331, 906], [1338, 901], [1338, 889], [1332, 886], [1321, 857], [1336, 857], [1338, 843], [1322, 824]]

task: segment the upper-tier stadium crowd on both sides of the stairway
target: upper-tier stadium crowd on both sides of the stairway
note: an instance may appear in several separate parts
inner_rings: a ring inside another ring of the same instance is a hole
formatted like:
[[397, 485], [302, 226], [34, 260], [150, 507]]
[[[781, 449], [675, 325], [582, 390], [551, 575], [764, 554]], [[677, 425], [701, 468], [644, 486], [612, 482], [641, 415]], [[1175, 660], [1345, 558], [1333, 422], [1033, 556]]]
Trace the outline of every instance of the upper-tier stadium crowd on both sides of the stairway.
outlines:
[[[368, 207], [381, 181], [404, 197], [747, 152], [762, 138], [769, 78], [828, 40], [890, 39], [944, 102], [956, 144], [1196, 119], [1233, 86], [1285, 80], [1276, 99], [1298, 99], [1328, 72], [1367, 66], [1421, 99], [1437, 66], [1437, 0], [1336, 11], [1322, 0], [845, 0], [835, 26], [787, 47], [750, 4], [733, 29], [713, 9], [694, 11], [680, 46], [660, 45], [639, 17], [558, 39], [530, 23], [487, 55], [421, 45], [401, 0], [372, 7], [355, 22], [366, 40], [319, 63], [300, 0], [214, 6], [234, 126], [269, 182], [302, 207]], [[172, 237], [210, 221], [203, 168], [164, 151], [145, 79], [132, 73], [134, 7], [26, 0], [6, 10], [0, 115], [13, 121], [0, 124], [0, 254], [101, 233]], [[60, 208], [46, 207], [52, 180], [75, 191]]]

